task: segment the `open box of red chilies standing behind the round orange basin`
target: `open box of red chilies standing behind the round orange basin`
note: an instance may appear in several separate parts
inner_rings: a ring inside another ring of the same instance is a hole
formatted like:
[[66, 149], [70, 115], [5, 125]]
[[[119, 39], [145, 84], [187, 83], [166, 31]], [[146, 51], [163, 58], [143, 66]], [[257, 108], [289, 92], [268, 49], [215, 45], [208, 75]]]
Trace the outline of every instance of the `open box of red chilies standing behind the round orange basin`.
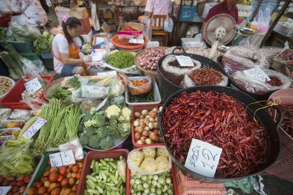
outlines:
[[[121, 29], [126, 26], [130, 26], [131, 28], [134, 28], [137, 31], [132, 31], [132, 32], [121, 31]], [[144, 39], [143, 30], [144, 30], [144, 24], [141, 24], [141, 23], [134, 23], [134, 22], [121, 23], [118, 28], [118, 39], [122, 39], [124, 37], [128, 39]]]

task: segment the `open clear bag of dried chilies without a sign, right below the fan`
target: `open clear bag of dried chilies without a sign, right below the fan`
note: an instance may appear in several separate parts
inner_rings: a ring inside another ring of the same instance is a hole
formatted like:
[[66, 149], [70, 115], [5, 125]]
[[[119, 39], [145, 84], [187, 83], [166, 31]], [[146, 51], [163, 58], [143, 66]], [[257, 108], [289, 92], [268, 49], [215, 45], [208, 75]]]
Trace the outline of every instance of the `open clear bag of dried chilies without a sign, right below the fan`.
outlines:
[[221, 65], [228, 75], [255, 67], [268, 68], [261, 49], [255, 46], [230, 47], [224, 54]]

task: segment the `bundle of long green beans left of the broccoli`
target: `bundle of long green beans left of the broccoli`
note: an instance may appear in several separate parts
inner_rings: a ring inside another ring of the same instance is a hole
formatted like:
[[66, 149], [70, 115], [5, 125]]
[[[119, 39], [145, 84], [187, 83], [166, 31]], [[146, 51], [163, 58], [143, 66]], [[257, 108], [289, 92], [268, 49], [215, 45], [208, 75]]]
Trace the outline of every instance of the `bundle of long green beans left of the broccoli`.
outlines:
[[39, 130], [40, 134], [33, 146], [33, 155], [40, 155], [47, 148], [56, 148], [60, 143], [77, 137], [80, 115], [79, 106], [66, 106], [61, 100], [51, 99], [49, 104], [42, 108], [40, 117], [46, 119], [47, 122]]

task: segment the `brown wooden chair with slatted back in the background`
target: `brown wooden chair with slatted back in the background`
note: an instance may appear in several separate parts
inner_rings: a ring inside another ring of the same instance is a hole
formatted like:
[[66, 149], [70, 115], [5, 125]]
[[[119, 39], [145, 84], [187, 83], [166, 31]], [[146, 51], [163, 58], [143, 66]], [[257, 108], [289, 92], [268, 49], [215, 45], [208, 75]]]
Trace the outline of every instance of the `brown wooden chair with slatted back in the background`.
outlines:
[[166, 18], [167, 18], [166, 15], [153, 15], [154, 26], [152, 27], [152, 32], [151, 32], [152, 35], [162, 35], [163, 36], [163, 40], [154, 40], [154, 39], [151, 39], [151, 40], [163, 42], [164, 47], [167, 47], [168, 34], [169, 34], [167, 32], [164, 32], [164, 21], [166, 20]]

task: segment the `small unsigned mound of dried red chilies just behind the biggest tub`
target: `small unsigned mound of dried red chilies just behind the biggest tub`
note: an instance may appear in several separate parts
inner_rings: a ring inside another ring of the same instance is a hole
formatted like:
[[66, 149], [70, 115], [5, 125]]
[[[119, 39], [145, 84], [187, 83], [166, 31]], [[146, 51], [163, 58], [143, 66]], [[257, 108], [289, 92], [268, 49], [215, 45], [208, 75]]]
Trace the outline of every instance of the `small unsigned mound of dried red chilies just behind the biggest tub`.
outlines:
[[221, 82], [222, 74], [211, 68], [196, 69], [188, 74], [188, 77], [195, 83], [196, 86], [214, 85]]

